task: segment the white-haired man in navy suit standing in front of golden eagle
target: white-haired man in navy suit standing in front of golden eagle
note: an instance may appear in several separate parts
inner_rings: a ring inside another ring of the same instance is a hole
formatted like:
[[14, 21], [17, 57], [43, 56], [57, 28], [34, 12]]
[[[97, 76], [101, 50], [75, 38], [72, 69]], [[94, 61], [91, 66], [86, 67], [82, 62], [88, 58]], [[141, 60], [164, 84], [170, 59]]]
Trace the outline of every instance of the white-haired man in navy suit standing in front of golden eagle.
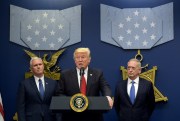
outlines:
[[18, 88], [18, 121], [56, 121], [58, 116], [51, 112], [49, 106], [52, 96], [58, 92], [58, 83], [44, 77], [41, 58], [33, 57], [30, 69], [34, 76], [21, 81]]

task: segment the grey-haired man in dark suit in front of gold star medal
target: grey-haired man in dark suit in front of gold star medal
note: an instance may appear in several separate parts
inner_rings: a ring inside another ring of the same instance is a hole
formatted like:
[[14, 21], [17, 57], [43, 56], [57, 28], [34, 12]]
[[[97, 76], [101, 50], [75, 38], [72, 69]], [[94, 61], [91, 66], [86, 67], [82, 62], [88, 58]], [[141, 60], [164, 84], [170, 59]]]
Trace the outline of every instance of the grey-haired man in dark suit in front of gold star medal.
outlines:
[[116, 85], [114, 107], [119, 121], [148, 121], [155, 107], [153, 85], [139, 78], [141, 63], [128, 61], [128, 80]]

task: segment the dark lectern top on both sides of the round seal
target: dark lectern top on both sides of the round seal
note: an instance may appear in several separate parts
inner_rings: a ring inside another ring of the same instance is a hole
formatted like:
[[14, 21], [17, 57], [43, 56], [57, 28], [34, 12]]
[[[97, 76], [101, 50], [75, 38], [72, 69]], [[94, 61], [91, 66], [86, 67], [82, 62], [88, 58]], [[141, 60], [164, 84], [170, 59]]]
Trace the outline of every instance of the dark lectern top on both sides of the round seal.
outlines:
[[[107, 112], [111, 108], [109, 107], [108, 99], [106, 97], [87, 97], [88, 107], [85, 111], [97, 111], [97, 112]], [[72, 112], [70, 107], [71, 97], [67, 96], [53, 96], [50, 104], [50, 109], [53, 112]]]

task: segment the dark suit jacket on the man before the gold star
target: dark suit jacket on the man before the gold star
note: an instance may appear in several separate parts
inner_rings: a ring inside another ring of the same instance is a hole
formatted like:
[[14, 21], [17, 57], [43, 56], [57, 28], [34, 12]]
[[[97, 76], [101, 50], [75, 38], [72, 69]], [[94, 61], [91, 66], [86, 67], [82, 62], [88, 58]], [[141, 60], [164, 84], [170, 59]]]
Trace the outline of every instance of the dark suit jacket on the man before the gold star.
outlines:
[[138, 92], [134, 104], [127, 93], [127, 80], [116, 85], [114, 107], [120, 121], [148, 121], [155, 107], [152, 83], [139, 80]]

